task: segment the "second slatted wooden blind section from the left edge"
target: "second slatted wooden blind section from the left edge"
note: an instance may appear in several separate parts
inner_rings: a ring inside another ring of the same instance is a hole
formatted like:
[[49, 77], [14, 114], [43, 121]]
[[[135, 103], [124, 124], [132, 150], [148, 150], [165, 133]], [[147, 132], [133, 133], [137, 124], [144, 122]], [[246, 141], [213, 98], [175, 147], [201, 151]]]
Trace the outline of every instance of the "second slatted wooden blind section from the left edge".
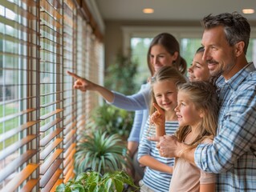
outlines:
[[63, 2], [40, 1], [40, 181], [58, 182], [63, 163]]

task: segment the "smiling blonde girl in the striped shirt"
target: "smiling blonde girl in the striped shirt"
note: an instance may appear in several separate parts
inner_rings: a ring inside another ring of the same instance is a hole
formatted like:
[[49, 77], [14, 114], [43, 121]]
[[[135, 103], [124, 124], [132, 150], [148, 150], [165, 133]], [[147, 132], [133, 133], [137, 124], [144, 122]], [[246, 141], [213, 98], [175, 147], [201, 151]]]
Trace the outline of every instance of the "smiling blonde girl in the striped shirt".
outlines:
[[[177, 83], [185, 83], [186, 79], [172, 66], [162, 66], [151, 80], [152, 103], [157, 103], [165, 111], [166, 134], [174, 134], [178, 127], [177, 115]], [[150, 114], [154, 111], [151, 108]], [[142, 139], [140, 140], [138, 160], [146, 166], [144, 178], [140, 181], [140, 191], [169, 191], [169, 184], [173, 173], [173, 158], [162, 158], [156, 149], [155, 142], [149, 142], [147, 137], [156, 135], [156, 128], [146, 123]]]

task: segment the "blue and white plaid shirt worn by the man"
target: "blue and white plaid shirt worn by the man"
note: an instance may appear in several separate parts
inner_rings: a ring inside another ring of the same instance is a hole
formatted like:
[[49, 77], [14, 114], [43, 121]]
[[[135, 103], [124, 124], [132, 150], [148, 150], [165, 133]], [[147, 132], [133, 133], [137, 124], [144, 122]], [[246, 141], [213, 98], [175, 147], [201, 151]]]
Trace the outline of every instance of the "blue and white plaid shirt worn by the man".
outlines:
[[256, 191], [256, 71], [251, 62], [217, 79], [220, 112], [213, 144], [197, 146], [195, 162], [217, 174], [217, 191]]

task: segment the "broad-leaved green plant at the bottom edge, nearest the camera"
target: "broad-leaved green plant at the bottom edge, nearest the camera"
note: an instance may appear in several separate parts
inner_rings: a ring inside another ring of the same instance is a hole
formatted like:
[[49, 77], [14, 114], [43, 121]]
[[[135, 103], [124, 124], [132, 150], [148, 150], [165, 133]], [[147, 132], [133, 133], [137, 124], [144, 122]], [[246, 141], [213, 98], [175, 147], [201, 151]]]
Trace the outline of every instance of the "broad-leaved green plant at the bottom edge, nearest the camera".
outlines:
[[[124, 184], [138, 187], [132, 182], [132, 178], [124, 171], [114, 171], [106, 173], [103, 176], [96, 171], [87, 171], [79, 174], [77, 178], [62, 183], [56, 187], [57, 192], [122, 192], [125, 190]], [[135, 190], [133, 190], [135, 191]]]

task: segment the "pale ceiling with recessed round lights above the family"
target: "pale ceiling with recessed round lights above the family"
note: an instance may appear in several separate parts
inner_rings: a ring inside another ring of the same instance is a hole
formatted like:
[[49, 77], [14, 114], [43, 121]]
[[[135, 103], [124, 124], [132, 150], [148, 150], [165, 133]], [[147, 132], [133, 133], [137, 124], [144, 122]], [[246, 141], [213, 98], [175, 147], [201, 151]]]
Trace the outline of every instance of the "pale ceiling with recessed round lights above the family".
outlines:
[[[253, 8], [256, 0], [95, 0], [104, 20], [133, 21], [201, 21], [208, 14]], [[143, 14], [144, 8], [153, 8], [153, 14]], [[256, 13], [246, 14], [256, 21]]]

